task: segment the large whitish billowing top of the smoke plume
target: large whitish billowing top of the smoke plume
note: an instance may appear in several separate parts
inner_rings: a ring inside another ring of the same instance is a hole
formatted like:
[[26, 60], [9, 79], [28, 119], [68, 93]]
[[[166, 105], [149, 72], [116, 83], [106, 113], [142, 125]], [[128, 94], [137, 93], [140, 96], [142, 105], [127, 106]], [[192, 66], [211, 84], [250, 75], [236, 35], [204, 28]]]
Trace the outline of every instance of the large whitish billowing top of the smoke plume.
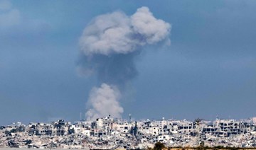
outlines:
[[80, 47], [93, 54], [127, 54], [137, 47], [166, 39], [171, 25], [154, 18], [149, 8], [138, 8], [132, 16], [114, 12], [95, 18], [80, 37]]

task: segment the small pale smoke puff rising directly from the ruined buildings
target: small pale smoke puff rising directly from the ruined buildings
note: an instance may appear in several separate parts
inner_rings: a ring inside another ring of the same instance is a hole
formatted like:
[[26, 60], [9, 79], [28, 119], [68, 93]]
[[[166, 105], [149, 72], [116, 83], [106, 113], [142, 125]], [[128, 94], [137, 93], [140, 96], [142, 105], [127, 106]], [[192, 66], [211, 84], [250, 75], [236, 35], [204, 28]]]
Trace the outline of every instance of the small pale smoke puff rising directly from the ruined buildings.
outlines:
[[119, 105], [120, 96], [121, 94], [117, 88], [106, 83], [102, 83], [100, 88], [92, 88], [87, 102], [91, 107], [86, 113], [87, 120], [95, 120], [107, 115], [116, 118], [121, 117], [124, 110]]

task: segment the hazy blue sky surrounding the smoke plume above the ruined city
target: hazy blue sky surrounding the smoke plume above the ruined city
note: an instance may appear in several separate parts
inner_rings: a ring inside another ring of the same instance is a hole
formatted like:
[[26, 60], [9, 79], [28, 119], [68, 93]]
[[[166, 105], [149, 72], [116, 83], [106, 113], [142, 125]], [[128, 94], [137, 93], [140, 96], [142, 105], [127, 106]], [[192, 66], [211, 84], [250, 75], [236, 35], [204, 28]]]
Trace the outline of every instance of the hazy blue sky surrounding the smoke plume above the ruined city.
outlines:
[[0, 0], [0, 125], [84, 117], [100, 83], [78, 74], [82, 30], [142, 6], [171, 23], [171, 45], [136, 57], [123, 118], [256, 116], [256, 1]]

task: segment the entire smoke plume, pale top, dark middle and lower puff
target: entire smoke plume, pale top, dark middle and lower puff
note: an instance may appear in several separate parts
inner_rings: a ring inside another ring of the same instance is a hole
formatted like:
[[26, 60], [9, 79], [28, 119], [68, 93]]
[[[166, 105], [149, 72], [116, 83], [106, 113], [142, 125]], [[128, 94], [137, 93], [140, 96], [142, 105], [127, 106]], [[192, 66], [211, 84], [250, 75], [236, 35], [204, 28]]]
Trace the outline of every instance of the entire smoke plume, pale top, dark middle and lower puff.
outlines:
[[[105, 91], [105, 96], [113, 95], [114, 91], [119, 91], [118, 88], [124, 92], [126, 83], [137, 76], [134, 57], [140, 54], [141, 47], [154, 45], [164, 40], [169, 41], [170, 30], [171, 25], [156, 19], [147, 7], [138, 8], [132, 16], [127, 16], [120, 11], [97, 16], [87, 25], [80, 37], [82, 54], [80, 72], [96, 74], [103, 83], [97, 89]], [[113, 87], [116, 90], [110, 90], [114, 89]], [[114, 103], [119, 98], [97, 96], [101, 93], [95, 91], [97, 90], [92, 90], [93, 96], [90, 96], [89, 100], [91, 109], [87, 112], [92, 115], [87, 116], [112, 115], [120, 117], [123, 110], [117, 109], [114, 113], [112, 105], [107, 103]], [[110, 93], [107, 94], [107, 92]], [[117, 93], [120, 95], [120, 92]], [[107, 102], [97, 105], [102, 100], [107, 100]], [[118, 105], [118, 107], [115, 106], [116, 108], [121, 108], [119, 103], [114, 104]]]

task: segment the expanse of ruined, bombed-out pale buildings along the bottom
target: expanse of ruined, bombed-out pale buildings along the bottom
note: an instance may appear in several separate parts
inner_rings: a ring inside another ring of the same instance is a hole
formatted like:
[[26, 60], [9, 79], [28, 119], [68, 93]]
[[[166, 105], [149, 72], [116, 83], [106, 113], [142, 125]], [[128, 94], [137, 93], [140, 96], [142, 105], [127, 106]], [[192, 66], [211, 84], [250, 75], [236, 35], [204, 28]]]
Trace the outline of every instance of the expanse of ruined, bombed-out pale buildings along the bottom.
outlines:
[[206, 121], [114, 119], [0, 126], [0, 147], [63, 149], [148, 149], [166, 147], [256, 147], [256, 117]]

